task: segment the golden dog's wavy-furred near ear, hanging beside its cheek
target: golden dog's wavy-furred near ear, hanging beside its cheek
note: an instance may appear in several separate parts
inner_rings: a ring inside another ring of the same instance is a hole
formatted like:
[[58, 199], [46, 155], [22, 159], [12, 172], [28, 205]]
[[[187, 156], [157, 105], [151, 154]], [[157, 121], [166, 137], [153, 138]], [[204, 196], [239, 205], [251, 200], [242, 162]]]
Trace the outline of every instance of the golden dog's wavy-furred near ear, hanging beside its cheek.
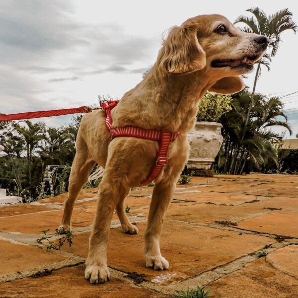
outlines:
[[158, 54], [159, 68], [170, 74], [183, 74], [205, 67], [206, 54], [197, 38], [197, 25], [173, 27]]

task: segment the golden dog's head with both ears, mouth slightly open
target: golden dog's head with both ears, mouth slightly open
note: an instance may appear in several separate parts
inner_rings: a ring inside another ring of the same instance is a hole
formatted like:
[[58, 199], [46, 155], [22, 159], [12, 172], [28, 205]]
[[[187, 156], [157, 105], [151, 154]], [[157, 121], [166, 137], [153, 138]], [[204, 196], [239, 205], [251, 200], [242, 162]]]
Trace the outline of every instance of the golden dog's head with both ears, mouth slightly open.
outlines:
[[216, 80], [210, 91], [235, 93], [244, 87], [241, 74], [253, 70], [267, 44], [267, 37], [243, 32], [222, 15], [200, 15], [171, 29], [157, 64], [169, 74], [204, 70]]

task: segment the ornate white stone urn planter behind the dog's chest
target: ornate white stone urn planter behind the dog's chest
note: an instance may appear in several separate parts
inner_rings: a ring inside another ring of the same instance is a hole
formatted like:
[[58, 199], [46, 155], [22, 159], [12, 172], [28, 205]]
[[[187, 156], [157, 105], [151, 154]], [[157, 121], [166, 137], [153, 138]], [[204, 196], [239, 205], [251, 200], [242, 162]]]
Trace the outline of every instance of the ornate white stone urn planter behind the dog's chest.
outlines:
[[222, 124], [218, 122], [196, 122], [194, 130], [187, 136], [190, 144], [188, 170], [209, 170], [223, 143]]

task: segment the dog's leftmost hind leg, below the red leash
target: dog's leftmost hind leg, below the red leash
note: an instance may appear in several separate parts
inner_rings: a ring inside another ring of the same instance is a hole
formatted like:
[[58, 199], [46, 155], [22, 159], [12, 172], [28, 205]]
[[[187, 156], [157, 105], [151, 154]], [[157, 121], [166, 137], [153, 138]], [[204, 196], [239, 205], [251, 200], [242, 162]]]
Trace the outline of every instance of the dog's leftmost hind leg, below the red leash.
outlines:
[[88, 176], [94, 165], [95, 162], [89, 155], [85, 141], [78, 134], [76, 140], [76, 153], [69, 179], [69, 194], [65, 201], [63, 218], [59, 226], [61, 232], [70, 231], [72, 228], [71, 219], [75, 199], [84, 183], [87, 182]]

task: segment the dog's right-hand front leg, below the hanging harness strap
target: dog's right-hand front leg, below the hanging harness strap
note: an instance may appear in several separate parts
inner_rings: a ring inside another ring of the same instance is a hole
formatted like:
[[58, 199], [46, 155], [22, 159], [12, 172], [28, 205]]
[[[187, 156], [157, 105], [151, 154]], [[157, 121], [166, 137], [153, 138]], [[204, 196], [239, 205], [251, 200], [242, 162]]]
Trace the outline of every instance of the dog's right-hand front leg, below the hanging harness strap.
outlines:
[[150, 204], [147, 230], [145, 233], [144, 254], [146, 266], [154, 270], [169, 268], [168, 261], [162, 257], [159, 247], [159, 239], [163, 222], [175, 190], [176, 179], [155, 184]]

